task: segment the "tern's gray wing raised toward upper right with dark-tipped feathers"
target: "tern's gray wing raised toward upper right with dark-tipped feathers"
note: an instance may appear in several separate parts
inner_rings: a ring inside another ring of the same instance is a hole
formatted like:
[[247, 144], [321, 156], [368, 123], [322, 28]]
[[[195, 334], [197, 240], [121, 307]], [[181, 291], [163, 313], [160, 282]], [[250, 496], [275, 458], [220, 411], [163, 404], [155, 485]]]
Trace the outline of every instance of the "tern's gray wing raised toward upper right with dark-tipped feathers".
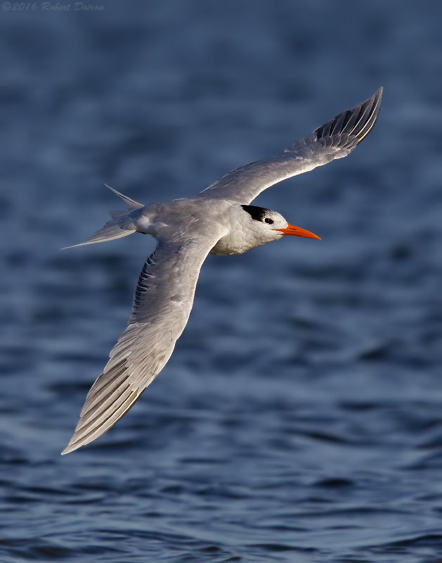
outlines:
[[248, 204], [281, 180], [330, 163], [334, 158], [344, 158], [375, 125], [381, 98], [382, 88], [379, 88], [367, 101], [339, 113], [309, 137], [286, 148], [283, 154], [232, 170], [201, 195]]

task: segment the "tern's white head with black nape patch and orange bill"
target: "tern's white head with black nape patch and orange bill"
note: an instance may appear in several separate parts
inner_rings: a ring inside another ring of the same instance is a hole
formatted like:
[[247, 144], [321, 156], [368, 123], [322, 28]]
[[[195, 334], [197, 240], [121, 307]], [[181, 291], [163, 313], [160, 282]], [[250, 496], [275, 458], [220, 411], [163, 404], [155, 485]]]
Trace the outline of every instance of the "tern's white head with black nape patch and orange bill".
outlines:
[[306, 229], [294, 227], [276, 211], [256, 207], [256, 205], [241, 205], [241, 207], [249, 215], [247, 219], [249, 228], [253, 230], [257, 238], [261, 239], [261, 244], [276, 241], [287, 234], [301, 236], [304, 239], [320, 239], [319, 236]]

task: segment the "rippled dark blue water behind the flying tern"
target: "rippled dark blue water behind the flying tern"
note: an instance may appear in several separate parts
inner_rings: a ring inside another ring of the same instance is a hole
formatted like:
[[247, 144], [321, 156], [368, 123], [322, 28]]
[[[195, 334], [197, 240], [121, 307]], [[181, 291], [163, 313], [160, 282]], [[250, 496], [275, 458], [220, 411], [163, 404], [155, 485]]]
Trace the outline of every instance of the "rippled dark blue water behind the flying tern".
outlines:
[[[0, 562], [442, 562], [442, 3], [92, 1], [0, 6]], [[154, 247], [59, 251], [103, 183], [193, 194], [381, 85], [256, 200], [322, 241], [209, 256], [167, 367], [60, 457]]]

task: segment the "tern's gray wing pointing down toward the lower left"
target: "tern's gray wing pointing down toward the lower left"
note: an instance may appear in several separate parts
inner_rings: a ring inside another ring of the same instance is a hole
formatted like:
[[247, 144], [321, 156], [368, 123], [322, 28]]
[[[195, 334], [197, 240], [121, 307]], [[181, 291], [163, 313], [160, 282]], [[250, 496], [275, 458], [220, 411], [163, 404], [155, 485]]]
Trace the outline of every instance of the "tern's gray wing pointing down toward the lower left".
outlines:
[[188, 321], [202, 262], [219, 238], [160, 241], [138, 279], [129, 327], [89, 391], [63, 454], [110, 429], [166, 365]]

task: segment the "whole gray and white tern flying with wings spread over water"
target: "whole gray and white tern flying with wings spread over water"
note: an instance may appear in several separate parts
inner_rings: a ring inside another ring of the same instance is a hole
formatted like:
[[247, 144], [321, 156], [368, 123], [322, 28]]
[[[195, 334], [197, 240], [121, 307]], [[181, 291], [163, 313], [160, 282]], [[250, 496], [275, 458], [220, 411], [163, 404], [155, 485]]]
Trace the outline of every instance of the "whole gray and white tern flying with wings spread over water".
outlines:
[[381, 97], [379, 88], [281, 155], [241, 166], [195, 196], [143, 205], [110, 188], [127, 210], [111, 211], [112, 220], [103, 229], [74, 246], [138, 232], [155, 236], [157, 248], [141, 270], [129, 326], [91, 387], [63, 454], [108, 431], [166, 365], [188, 322], [207, 254], [241, 254], [287, 235], [319, 239], [279, 213], [250, 203], [281, 180], [347, 156], [375, 125]]

